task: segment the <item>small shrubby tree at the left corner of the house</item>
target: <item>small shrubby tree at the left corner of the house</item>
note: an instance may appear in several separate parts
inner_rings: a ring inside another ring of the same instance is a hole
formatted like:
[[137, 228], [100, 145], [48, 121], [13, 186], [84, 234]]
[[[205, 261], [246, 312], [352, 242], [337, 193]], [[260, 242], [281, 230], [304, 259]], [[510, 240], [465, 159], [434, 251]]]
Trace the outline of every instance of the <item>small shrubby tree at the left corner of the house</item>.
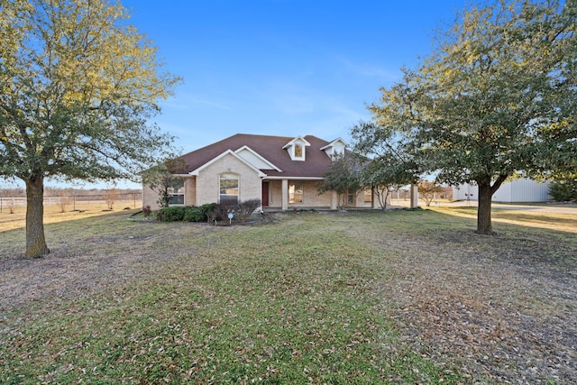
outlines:
[[142, 174], [143, 183], [159, 195], [157, 203], [160, 208], [168, 207], [173, 193], [184, 186], [184, 179], [180, 175], [186, 169], [187, 164], [181, 158], [166, 158]]

